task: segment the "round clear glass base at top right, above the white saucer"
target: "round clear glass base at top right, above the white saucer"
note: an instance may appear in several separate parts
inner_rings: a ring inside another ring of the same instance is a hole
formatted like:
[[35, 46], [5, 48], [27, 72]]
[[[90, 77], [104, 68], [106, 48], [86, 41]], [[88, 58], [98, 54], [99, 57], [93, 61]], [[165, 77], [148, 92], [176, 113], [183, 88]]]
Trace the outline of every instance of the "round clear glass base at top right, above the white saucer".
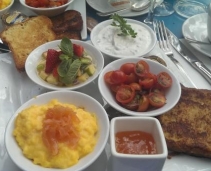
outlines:
[[196, 0], [177, 0], [174, 4], [174, 10], [180, 16], [189, 18], [196, 14], [206, 13], [207, 6]]

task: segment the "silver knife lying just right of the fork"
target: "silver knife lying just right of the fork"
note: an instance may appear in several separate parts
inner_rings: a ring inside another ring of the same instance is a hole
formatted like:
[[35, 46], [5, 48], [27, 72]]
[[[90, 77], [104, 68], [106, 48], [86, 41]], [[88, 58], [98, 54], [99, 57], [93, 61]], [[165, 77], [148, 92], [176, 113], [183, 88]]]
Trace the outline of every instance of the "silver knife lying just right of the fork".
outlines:
[[[211, 71], [170, 30], [167, 29], [167, 32], [174, 49], [211, 84]], [[187, 55], [184, 51], [190, 55]]]

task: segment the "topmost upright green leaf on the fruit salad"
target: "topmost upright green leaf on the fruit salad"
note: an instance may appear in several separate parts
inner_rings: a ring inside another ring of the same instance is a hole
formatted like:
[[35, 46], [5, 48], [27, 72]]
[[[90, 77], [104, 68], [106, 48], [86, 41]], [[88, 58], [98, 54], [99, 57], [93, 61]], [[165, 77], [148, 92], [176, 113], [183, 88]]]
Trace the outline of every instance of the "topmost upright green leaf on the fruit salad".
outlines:
[[60, 43], [60, 47], [59, 47], [62, 52], [66, 55], [68, 55], [69, 57], [73, 56], [73, 44], [70, 41], [70, 39], [68, 38], [63, 38], [61, 43]]

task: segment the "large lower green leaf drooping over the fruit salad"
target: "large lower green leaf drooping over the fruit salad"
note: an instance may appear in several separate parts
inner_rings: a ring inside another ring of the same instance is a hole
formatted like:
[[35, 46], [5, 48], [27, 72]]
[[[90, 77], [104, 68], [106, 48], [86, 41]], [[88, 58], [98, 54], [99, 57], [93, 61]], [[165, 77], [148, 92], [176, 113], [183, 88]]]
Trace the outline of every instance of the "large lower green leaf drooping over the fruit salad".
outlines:
[[81, 61], [79, 59], [74, 60], [70, 65], [66, 75], [61, 78], [61, 81], [64, 84], [72, 84], [75, 81], [75, 78], [77, 76], [80, 67], [81, 67]]

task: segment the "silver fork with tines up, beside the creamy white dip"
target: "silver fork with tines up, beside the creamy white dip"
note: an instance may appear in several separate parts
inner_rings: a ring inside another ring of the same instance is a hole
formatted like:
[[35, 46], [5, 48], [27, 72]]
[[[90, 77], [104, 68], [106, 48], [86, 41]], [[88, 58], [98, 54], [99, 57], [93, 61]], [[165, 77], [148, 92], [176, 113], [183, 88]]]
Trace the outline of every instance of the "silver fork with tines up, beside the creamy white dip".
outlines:
[[[192, 80], [189, 78], [186, 71], [183, 69], [183, 66], [174, 57], [164, 22], [163, 21], [153, 21], [153, 28], [156, 33], [160, 49], [163, 50], [163, 52], [176, 65], [176, 67], [179, 69], [179, 71], [181, 71], [181, 73], [193, 84]], [[194, 87], [195, 87], [195, 85], [194, 85]]]

